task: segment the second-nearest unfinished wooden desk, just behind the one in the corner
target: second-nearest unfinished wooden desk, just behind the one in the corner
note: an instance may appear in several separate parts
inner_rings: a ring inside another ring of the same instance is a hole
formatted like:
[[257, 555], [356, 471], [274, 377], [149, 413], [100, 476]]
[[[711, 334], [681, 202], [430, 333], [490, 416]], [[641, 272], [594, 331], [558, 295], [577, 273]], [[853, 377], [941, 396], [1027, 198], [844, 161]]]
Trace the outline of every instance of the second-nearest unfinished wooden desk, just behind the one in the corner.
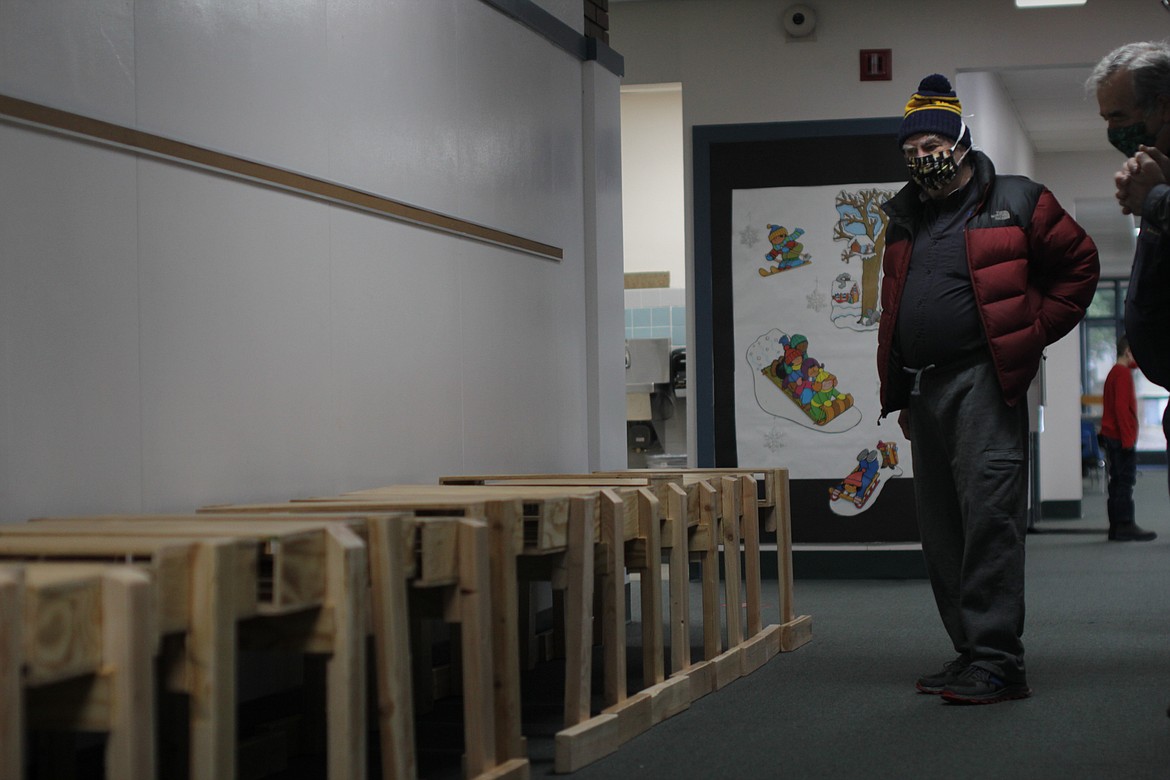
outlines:
[[[186, 560], [154, 558], [177, 539], [197, 543], [193, 554]], [[177, 629], [187, 637], [168, 679], [191, 696], [193, 778], [235, 775], [238, 637], [243, 621], [260, 617], [268, 622], [249, 623], [253, 630], [269, 631], [280, 621], [271, 636], [303, 653], [328, 655], [329, 776], [365, 776], [366, 548], [351, 527], [304, 518], [281, 526], [239, 518], [229, 525], [193, 516], [39, 519], [0, 526], [0, 552], [6, 557], [89, 558], [119, 548], [145, 558], [156, 572], [165, 562], [170, 581], [178, 586], [159, 589], [159, 614], [163, 630]], [[186, 577], [174, 577], [176, 568]]]

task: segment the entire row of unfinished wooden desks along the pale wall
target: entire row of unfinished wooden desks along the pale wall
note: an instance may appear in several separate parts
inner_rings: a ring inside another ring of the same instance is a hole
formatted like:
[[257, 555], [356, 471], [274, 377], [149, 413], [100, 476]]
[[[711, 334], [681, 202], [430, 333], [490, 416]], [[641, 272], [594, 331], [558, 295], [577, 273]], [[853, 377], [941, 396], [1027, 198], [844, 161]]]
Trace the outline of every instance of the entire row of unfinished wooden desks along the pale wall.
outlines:
[[[23, 776], [34, 727], [105, 732], [106, 776], [166, 776], [160, 691], [188, 703], [183, 774], [262, 776], [238, 722], [238, 661], [252, 648], [324, 657], [324, 695], [310, 703], [329, 778], [417, 778], [434, 621], [448, 626], [457, 667], [463, 774], [526, 778], [521, 678], [542, 656], [531, 595], [542, 582], [564, 657], [555, 762], [572, 772], [811, 637], [810, 619], [791, 612], [786, 489], [783, 470], [479, 475], [0, 525], [0, 620], [14, 627], [0, 639], [0, 780]], [[762, 524], [776, 531], [782, 574], [779, 622], [768, 626]], [[633, 676], [631, 575], [642, 615]], [[280, 752], [261, 764], [276, 768]]]

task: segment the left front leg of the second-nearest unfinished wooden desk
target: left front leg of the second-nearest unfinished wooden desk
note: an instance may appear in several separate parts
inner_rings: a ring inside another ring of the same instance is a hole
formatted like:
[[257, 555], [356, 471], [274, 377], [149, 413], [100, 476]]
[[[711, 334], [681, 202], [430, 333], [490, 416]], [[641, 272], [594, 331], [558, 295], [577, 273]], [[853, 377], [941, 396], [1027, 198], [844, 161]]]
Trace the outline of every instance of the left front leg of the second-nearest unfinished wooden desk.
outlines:
[[191, 778], [235, 776], [236, 581], [235, 546], [197, 545], [192, 571]]

